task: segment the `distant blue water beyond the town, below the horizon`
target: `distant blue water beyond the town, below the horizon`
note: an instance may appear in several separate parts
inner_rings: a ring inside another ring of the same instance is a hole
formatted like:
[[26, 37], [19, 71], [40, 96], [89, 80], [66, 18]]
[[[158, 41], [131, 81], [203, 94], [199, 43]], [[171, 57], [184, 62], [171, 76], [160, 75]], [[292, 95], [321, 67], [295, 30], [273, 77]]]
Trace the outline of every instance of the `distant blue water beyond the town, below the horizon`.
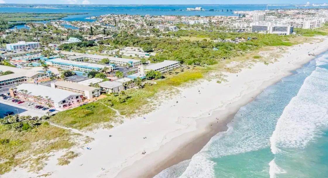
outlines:
[[[43, 5], [34, 5], [43, 6]], [[235, 4], [235, 5], [49, 5], [51, 8], [28, 7], [0, 7], [0, 12], [34, 12], [34, 13], [88, 13], [82, 15], [70, 15], [63, 18], [66, 21], [89, 21], [91, 16], [105, 14], [131, 14], [131, 15], [184, 15], [184, 16], [215, 16], [215, 15], [239, 15], [233, 14], [235, 10], [266, 10], [266, 9], [296, 9], [317, 8], [298, 7], [295, 5], [271, 5], [264, 4]], [[186, 11], [187, 8], [202, 7], [205, 10], [214, 11]], [[323, 6], [320, 8], [328, 8]], [[227, 11], [228, 10], [228, 11]], [[232, 11], [230, 11], [232, 10]], [[45, 22], [44, 22], [45, 23]]]

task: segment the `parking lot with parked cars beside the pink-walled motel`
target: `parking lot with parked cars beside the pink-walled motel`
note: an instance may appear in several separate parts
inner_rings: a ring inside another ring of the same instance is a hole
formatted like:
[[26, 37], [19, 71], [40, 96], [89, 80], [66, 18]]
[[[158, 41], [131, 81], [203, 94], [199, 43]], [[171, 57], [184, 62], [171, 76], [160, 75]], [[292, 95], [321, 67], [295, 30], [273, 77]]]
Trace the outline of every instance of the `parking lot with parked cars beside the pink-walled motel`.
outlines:
[[[31, 116], [39, 116], [39, 117], [41, 117], [41, 116], [46, 115], [46, 113], [50, 109], [54, 109], [54, 108], [49, 108], [47, 105], [39, 104], [39, 103], [36, 103], [36, 102], [33, 102], [33, 101], [26, 101], [23, 98], [19, 98], [18, 99], [20, 101], [24, 101], [24, 103], [20, 103], [20, 104], [18, 104], [18, 102], [12, 102], [12, 100], [14, 100], [14, 98], [13, 99], [10, 99], [10, 100], [5, 100], [2, 97], [0, 97], [0, 103], [5, 104], [5, 105], [8, 105], [8, 106], [12, 106], [12, 107], [6, 107], [6, 108], [10, 109], [10, 110], [7, 110], [7, 111], [12, 111], [15, 114], [17, 112], [19, 112], [15, 108], [19, 108], [19, 109], [24, 109], [25, 110], [22, 113], [19, 113], [20, 115], [31, 115]], [[42, 109], [37, 109], [37, 108], [35, 108], [35, 106], [42, 106], [44, 108], [49, 108], [49, 109], [46, 109], [46, 110], [42, 110], [43, 108]], [[56, 112], [58, 112], [58, 111], [54, 111], [52, 113], [56, 113]]]

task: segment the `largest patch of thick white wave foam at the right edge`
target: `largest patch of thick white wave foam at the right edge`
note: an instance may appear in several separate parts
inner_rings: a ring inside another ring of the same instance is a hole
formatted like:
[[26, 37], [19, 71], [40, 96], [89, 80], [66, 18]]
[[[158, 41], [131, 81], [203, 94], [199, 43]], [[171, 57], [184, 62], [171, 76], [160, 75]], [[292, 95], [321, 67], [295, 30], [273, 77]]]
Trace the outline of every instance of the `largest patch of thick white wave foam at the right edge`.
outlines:
[[274, 154], [279, 148], [304, 148], [328, 126], [328, 70], [317, 67], [308, 76], [297, 96], [278, 119], [270, 143]]

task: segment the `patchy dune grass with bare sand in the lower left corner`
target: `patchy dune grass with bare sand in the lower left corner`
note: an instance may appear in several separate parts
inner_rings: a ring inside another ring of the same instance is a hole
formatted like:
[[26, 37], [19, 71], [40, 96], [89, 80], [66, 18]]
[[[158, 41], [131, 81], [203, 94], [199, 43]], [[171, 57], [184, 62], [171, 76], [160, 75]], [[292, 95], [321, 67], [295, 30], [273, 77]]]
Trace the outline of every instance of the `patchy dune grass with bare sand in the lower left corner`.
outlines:
[[47, 153], [74, 145], [69, 141], [71, 135], [46, 122], [28, 130], [0, 126], [0, 174], [26, 162], [31, 163], [31, 171], [40, 170], [49, 157]]

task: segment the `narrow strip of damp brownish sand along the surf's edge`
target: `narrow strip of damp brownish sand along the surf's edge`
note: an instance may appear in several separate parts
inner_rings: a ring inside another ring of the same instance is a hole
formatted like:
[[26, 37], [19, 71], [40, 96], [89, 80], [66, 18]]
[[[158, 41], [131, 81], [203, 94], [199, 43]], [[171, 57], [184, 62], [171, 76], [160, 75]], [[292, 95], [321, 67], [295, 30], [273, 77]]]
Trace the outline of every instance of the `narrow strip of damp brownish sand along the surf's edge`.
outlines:
[[[320, 51], [316, 51], [316, 52], [322, 54], [327, 50], [328, 47], [326, 47], [326, 49], [321, 49]], [[228, 105], [225, 109], [213, 111], [210, 116], [197, 119], [196, 121], [198, 126], [197, 129], [201, 129], [201, 130], [187, 132], [178, 137], [175, 137], [169, 143], [162, 145], [159, 148], [159, 150], [145, 156], [141, 160], [136, 161], [135, 163], [133, 163], [132, 166], [122, 169], [122, 171], [117, 176], [115, 176], [115, 178], [124, 178], [124, 177], [153, 178], [164, 169], [172, 167], [182, 161], [191, 159], [192, 156], [198, 153], [210, 141], [210, 139], [213, 136], [227, 131], [228, 129], [227, 125], [233, 121], [236, 113], [239, 111], [241, 107], [251, 103], [267, 87], [271, 85], [275, 85], [277, 82], [281, 81], [282, 78], [292, 75], [293, 71], [300, 69], [304, 65], [308, 64], [310, 61], [315, 59], [319, 54], [317, 54], [316, 56], [310, 56], [308, 59], [305, 59], [299, 63], [295, 63], [292, 68], [282, 71], [283, 75], [277, 75], [275, 78], [272, 78], [267, 81], [263, 81], [262, 85], [258, 87], [256, 90], [243, 95], [238, 101], [231, 103], [231, 105]], [[218, 123], [216, 123], [215, 118], [218, 116], [222, 119], [219, 119]], [[210, 120], [213, 119], [215, 120], [211, 122]], [[203, 125], [204, 123], [211, 124], [214, 127], [204, 126]], [[188, 136], [188, 134], [192, 134], [194, 136]], [[158, 155], [163, 155], [165, 151], [169, 150], [168, 148], [172, 147], [172, 145], [174, 144], [179, 143], [179, 140], [186, 140], [188, 139], [188, 137], [192, 137], [189, 140], [190, 143], [186, 143], [183, 145], [181, 144], [174, 151], [171, 150], [171, 154], [166, 156], [165, 159], [162, 160], [157, 159]], [[155, 165], [153, 163], [154, 160], [158, 162]], [[140, 167], [146, 168], [146, 170], [143, 169], [143, 171], [140, 171]]]

